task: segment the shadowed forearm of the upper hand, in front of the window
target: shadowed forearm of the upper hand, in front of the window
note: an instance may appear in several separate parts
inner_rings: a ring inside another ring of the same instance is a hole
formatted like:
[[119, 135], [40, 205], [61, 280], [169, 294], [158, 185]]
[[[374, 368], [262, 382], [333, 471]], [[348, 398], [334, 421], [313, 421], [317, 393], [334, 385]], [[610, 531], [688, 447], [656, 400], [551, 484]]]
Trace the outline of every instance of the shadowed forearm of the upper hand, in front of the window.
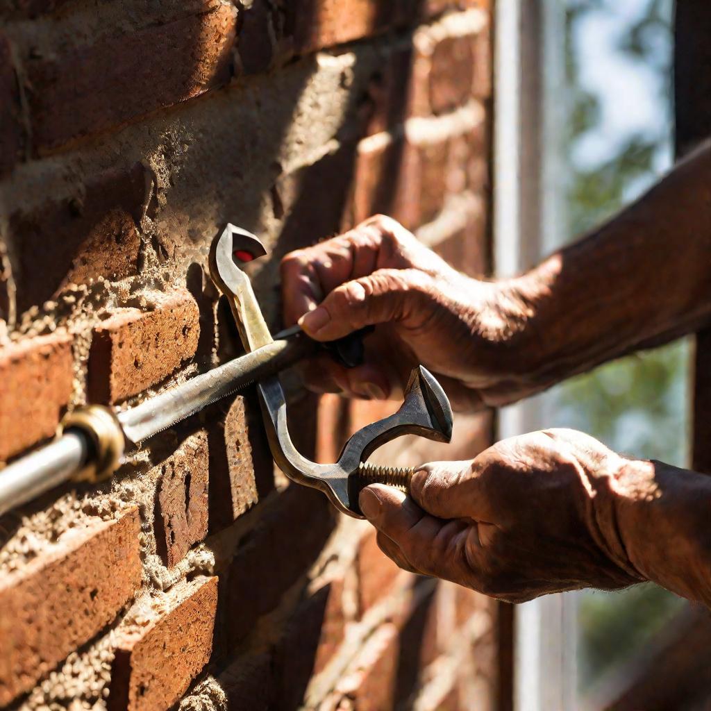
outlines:
[[711, 141], [518, 284], [543, 385], [711, 321]]

